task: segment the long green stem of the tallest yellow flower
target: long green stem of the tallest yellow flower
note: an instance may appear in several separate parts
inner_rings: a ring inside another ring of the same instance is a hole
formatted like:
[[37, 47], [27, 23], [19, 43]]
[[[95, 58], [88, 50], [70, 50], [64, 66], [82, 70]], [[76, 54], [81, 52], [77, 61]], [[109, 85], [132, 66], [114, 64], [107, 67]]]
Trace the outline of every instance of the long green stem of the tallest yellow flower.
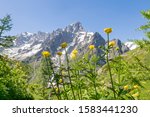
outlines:
[[113, 93], [114, 93], [114, 98], [116, 99], [115, 88], [114, 88], [114, 84], [113, 84], [113, 78], [112, 78], [112, 73], [111, 73], [111, 68], [110, 68], [109, 58], [108, 58], [108, 54], [109, 54], [109, 34], [107, 34], [107, 39], [108, 39], [108, 41], [107, 41], [106, 62], [107, 62], [107, 66], [108, 66], [108, 71], [109, 71], [112, 90], [113, 90]]

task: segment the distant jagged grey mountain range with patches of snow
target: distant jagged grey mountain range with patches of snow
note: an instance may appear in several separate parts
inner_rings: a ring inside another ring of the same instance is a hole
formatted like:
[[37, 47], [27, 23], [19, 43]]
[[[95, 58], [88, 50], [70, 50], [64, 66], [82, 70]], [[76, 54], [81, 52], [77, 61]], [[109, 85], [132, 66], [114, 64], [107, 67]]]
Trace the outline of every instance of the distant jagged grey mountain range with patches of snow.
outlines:
[[[113, 40], [116, 41], [116, 46], [120, 48], [120, 53], [137, 47], [133, 42], [122, 44], [119, 39]], [[51, 33], [21, 33], [14, 40], [14, 46], [4, 49], [3, 54], [21, 61], [33, 61], [34, 59], [39, 60], [41, 58], [43, 50], [48, 50], [51, 52], [53, 58], [56, 58], [56, 52], [61, 51], [60, 44], [63, 42], [68, 43], [66, 49], [68, 54], [74, 49], [77, 49], [79, 53], [85, 53], [90, 44], [94, 44], [96, 48], [105, 46], [106, 44], [105, 39], [98, 32], [87, 32], [80, 22], [76, 22], [65, 28], [58, 28]], [[64, 53], [63, 50], [62, 53]], [[97, 49], [96, 54], [101, 53], [102, 50]]]

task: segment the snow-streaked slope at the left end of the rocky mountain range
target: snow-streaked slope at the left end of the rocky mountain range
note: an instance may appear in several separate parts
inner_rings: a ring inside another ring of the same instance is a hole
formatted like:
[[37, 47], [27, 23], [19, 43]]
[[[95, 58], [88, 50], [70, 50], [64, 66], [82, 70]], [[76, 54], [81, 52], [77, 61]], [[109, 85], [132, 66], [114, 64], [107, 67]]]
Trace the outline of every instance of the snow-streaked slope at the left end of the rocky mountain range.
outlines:
[[42, 50], [42, 43], [49, 36], [47, 33], [38, 32], [37, 34], [24, 32], [17, 35], [14, 46], [3, 51], [3, 54], [18, 60], [24, 60]]

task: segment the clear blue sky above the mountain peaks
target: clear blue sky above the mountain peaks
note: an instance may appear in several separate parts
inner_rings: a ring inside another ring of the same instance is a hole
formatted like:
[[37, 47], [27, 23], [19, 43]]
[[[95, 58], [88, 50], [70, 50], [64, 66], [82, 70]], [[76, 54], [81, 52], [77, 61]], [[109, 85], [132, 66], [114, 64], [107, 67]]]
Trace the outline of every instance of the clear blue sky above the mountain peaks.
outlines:
[[150, 9], [150, 0], [0, 0], [0, 18], [11, 14], [9, 34], [52, 32], [80, 21], [86, 31], [112, 27], [111, 38], [122, 41], [143, 38], [136, 29], [146, 23], [141, 10]]

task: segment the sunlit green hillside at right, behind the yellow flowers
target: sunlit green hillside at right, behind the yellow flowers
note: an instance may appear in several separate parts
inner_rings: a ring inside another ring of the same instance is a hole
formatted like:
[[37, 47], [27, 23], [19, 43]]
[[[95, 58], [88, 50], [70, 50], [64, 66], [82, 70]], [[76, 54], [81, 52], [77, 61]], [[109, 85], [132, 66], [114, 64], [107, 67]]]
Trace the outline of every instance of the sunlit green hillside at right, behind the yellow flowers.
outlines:
[[[127, 80], [132, 80], [136, 78], [137, 84], [141, 86], [140, 88], [140, 96], [138, 99], [150, 99], [150, 52], [145, 48], [137, 48], [135, 50], [129, 51], [123, 55], [121, 55], [123, 62], [121, 65], [126, 65], [122, 67], [120, 71], [120, 77], [129, 78]], [[114, 60], [111, 61], [112, 71], [114, 73], [113, 78], [116, 76], [116, 62]], [[117, 61], [117, 58], [116, 58]], [[118, 63], [117, 63], [118, 64]], [[128, 69], [127, 69], [128, 68]], [[129, 70], [129, 71], [128, 71]], [[100, 70], [99, 74], [103, 74], [103, 77], [108, 76], [107, 65], [104, 65]], [[106, 82], [108, 79], [106, 79]], [[134, 84], [134, 82], [133, 82]], [[129, 86], [132, 85], [128, 84]]]

